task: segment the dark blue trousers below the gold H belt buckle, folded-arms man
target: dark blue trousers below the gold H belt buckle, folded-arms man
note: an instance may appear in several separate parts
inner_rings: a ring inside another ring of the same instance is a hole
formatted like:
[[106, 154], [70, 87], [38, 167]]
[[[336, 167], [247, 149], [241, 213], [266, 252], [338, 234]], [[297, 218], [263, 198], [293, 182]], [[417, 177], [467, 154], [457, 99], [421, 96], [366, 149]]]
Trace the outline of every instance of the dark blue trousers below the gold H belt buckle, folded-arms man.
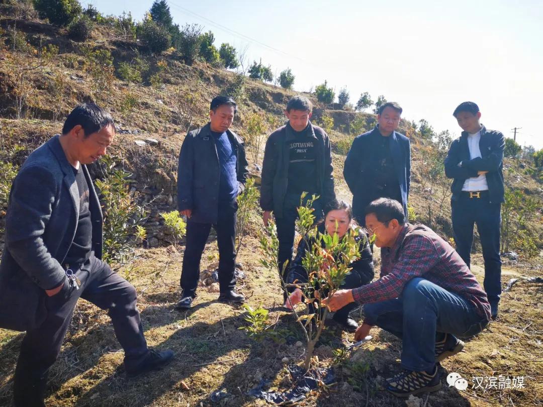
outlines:
[[462, 193], [451, 201], [452, 228], [456, 251], [470, 266], [473, 225], [477, 224], [484, 259], [484, 290], [488, 301], [497, 304], [502, 293], [502, 260], [500, 257], [501, 203], [490, 203], [488, 193], [481, 198], [469, 198]]

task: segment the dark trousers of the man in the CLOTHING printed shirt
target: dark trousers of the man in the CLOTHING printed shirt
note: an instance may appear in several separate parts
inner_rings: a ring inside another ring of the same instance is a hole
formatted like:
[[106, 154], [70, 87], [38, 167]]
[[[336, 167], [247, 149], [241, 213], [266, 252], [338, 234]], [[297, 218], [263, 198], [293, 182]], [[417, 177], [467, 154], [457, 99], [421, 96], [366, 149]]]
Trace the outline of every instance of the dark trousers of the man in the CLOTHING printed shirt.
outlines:
[[[301, 195], [301, 194], [300, 194]], [[275, 219], [275, 225], [277, 226], [277, 239], [279, 240], [279, 253], [277, 253], [277, 264], [279, 264], [279, 275], [285, 281], [288, 275], [288, 268], [292, 262], [292, 253], [294, 252], [294, 236], [296, 219], [298, 219], [298, 207], [300, 206], [300, 195], [287, 194], [283, 203], [283, 216]], [[304, 204], [307, 199], [311, 198], [311, 194], [306, 196]], [[320, 203], [320, 199], [313, 202], [313, 209], [315, 211], [315, 222], [323, 218], [323, 208]], [[288, 260], [287, 268], [285, 269], [285, 275], [282, 274], [283, 264]]]

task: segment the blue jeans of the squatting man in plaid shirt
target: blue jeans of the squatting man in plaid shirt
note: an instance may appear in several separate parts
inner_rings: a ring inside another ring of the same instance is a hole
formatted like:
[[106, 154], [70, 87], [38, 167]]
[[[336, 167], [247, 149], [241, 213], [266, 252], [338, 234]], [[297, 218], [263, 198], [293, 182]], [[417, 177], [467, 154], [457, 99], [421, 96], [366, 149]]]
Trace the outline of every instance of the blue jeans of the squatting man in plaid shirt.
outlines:
[[401, 365], [407, 370], [431, 370], [435, 339], [440, 333], [469, 338], [487, 326], [471, 303], [424, 278], [413, 278], [393, 300], [364, 304], [365, 323], [402, 340]]

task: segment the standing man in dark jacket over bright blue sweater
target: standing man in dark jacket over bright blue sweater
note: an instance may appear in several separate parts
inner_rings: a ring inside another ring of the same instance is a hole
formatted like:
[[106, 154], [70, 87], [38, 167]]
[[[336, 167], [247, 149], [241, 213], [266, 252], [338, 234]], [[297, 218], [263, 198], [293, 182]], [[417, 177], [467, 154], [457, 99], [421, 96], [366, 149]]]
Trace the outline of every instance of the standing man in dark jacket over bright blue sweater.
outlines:
[[217, 231], [219, 246], [219, 301], [244, 301], [243, 295], [234, 291], [236, 198], [249, 171], [243, 140], [229, 130], [236, 109], [231, 98], [214, 98], [210, 122], [188, 133], [181, 145], [177, 194], [179, 212], [187, 217], [187, 243], [177, 309], [192, 306], [211, 226]]

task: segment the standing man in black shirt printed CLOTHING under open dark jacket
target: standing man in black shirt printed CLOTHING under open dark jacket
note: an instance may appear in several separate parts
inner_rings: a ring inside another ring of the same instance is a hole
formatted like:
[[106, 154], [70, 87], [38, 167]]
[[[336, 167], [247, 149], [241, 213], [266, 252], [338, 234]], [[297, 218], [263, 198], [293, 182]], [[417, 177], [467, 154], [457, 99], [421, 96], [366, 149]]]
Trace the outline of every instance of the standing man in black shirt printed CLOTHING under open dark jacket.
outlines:
[[[292, 260], [294, 226], [298, 218], [300, 195], [307, 192], [320, 198], [313, 203], [317, 219], [323, 208], [336, 198], [332, 176], [332, 152], [326, 132], [310, 122], [313, 106], [302, 96], [288, 101], [288, 122], [268, 137], [262, 164], [260, 206], [264, 225], [273, 212], [279, 239], [279, 272]], [[288, 266], [287, 266], [288, 269]], [[286, 269], [286, 270], [287, 270]], [[281, 275], [281, 278], [286, 276]]]

